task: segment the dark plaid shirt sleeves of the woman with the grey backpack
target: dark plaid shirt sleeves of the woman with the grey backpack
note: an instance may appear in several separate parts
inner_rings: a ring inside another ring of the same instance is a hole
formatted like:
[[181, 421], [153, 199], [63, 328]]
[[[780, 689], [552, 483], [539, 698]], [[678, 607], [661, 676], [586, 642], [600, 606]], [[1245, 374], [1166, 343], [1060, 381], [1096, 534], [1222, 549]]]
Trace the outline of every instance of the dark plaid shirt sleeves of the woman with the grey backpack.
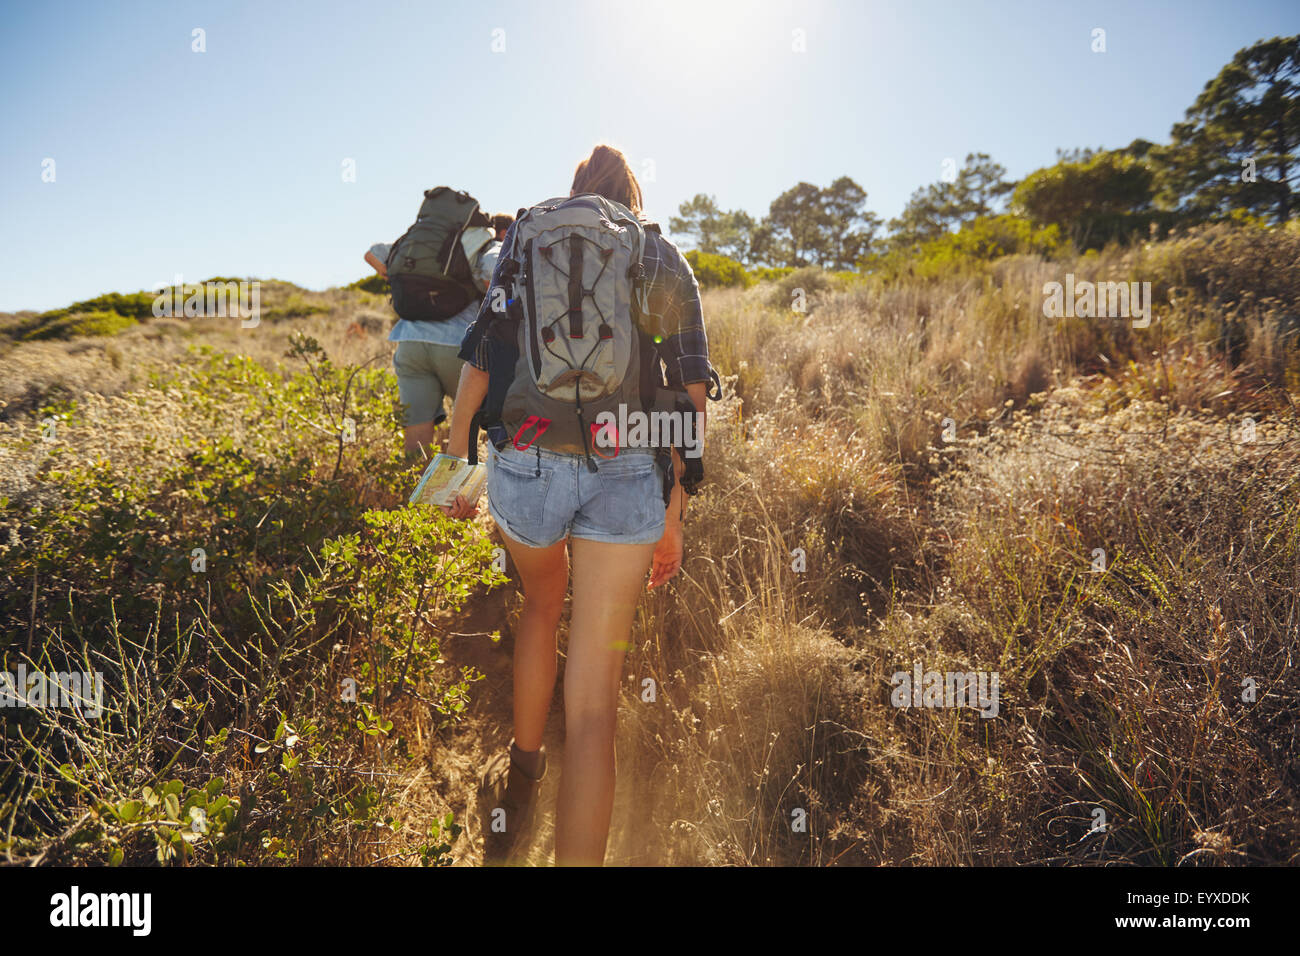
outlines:
[[[503, 252], [511, 247], [514, 239], [515, 226], [511, 225], [502, 243]], [[503, 261], [506, 261], [504, 255], [497, 260], [497, 269], [491, 277], [493, 286], [499, 285]], [[693, 382], [707, 382], [708, 337], [705, 334], [705, 316], [699, 307], [699, 284], [696, 281], [696, 273], [676, 246], [650, 230], [646, 230], [641, 264], [646, 274], [649, 315], [660, 317], [660, 328], [676, 329], [655, 346], [667, 371], [668, 385], [680, 388]], [[491, 299], [489, 289], [478, 307], [477, 319], [460, 343], [460, 358], [484, 372], [488, 371], [488, 343], [482, 333], [494, 315]]]

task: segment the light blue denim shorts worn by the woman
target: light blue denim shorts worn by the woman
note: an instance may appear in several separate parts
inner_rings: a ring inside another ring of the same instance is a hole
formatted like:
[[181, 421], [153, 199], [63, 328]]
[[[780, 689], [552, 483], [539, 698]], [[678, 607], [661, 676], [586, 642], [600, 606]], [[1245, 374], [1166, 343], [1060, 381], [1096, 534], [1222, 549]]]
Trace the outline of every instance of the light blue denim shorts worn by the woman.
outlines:
[[618, 544], [663, 537], [663, 475], [654, 454], [624, 449], [611, 459], [566, 455], [536, 445], [489, 449], [488, 511], [510, 537], [550, 548], [567, 536]]

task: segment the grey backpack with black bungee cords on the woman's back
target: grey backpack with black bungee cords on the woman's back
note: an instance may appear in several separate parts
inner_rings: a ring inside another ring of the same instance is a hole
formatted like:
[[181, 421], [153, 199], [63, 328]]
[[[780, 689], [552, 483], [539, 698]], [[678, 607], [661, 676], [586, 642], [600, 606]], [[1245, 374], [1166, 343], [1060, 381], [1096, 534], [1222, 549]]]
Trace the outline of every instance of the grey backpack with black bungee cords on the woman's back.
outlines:
[[549, 199], [516, 220], [506, 255], [516, 276], [519, 355], [500, 414], [515, 447], [582, 454], [595, 471], [597, 416], [655, 403], [642, 394], [654, 355], [641, 328], [645, 229], [595, 194]]

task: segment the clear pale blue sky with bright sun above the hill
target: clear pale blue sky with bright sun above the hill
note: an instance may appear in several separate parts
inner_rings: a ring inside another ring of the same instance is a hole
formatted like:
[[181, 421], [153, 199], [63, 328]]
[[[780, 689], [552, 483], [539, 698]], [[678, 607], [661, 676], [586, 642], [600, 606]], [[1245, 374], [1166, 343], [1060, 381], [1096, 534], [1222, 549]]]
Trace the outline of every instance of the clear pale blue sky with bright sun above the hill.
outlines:
[[421, 190], [514, 212], [567, 193], [599, 140], [628, 153], [664, 222], [696, 193], [760, 215], [844, 174], [888, 219], [949, 156], [984, 151], [1019, 178], [1057, 147], [1164, 142], [1235, 51], [1295, 34], [1300, 10], [40, 0], [5, 4], [4, 23], [0, 310], [17, 311], [176, 274], [350, 282]]

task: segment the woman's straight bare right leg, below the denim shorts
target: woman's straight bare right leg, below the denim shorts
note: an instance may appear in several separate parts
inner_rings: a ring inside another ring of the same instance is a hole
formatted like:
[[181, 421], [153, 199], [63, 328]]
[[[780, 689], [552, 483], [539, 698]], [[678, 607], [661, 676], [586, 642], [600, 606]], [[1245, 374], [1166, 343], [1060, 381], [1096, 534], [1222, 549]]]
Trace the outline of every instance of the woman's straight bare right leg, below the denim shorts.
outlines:
[[555, 862], [599, 866], [614, 810], [614, 734], [625, 645], [655, 545], [573, 538], [573, 607], [564, 665], [564, 763]]

